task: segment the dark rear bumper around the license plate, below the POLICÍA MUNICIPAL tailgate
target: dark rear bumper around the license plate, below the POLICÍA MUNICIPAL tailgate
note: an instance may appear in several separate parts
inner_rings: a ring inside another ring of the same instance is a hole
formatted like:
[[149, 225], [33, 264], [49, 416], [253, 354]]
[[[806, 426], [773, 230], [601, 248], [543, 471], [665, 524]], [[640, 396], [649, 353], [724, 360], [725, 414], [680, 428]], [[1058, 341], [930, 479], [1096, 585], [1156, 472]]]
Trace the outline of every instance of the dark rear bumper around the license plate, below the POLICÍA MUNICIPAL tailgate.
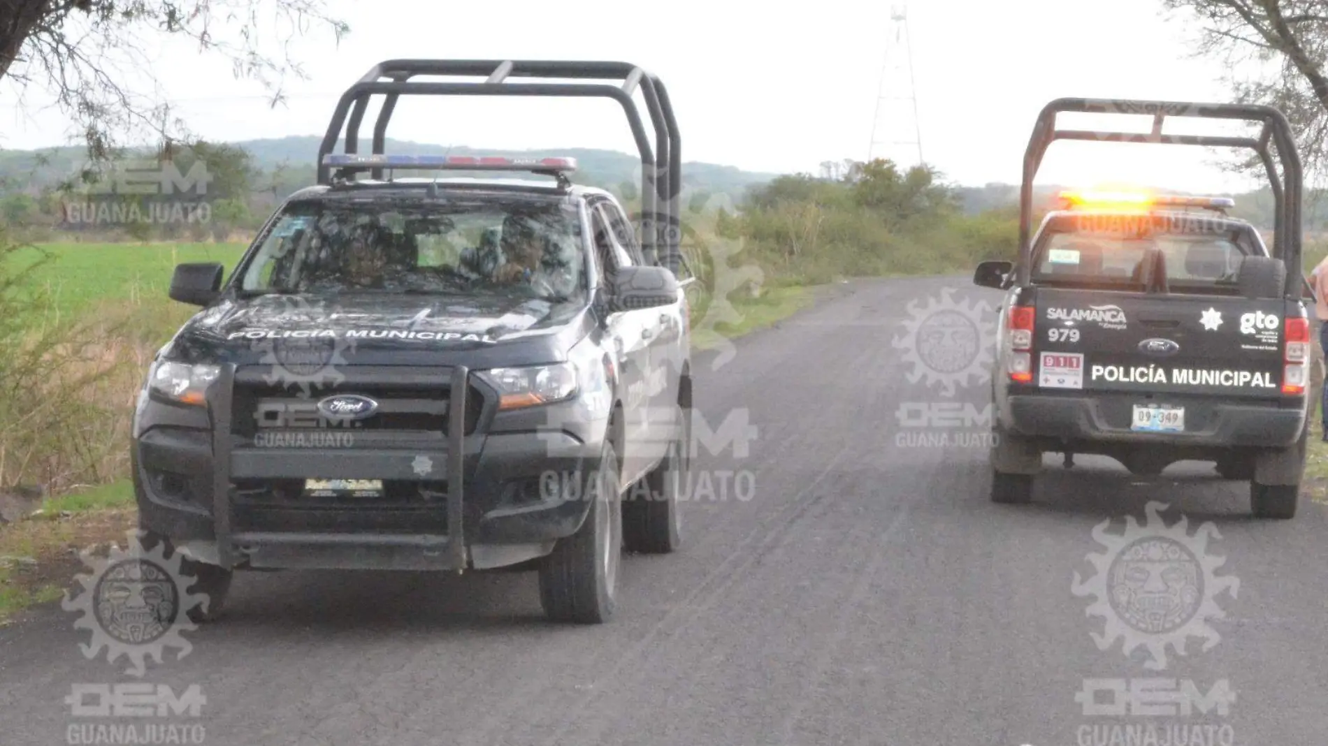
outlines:
[[1307, 409], [1276, 404], [1223, 404], [1212, 397], [1167, 397], [1186, 408], [1183, 433], [1138, 433], [1130, 429], [1133, 405], [1143, 397], [1011, 396], [1001, 410], [1013, 434], [1061, 442], [1171, 445], [1189, 447], [1286, 447], [1304, 430]]

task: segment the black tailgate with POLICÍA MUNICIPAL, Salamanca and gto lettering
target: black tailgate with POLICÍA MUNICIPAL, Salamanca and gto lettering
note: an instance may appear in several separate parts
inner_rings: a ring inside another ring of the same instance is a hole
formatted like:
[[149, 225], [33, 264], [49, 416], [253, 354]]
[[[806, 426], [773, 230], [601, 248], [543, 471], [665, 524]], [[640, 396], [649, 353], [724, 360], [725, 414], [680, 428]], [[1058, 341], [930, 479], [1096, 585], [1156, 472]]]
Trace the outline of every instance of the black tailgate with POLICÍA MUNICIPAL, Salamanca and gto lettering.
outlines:
[[1283, 300], [1038, 288], [1035, 384], [1275, 398], [1284, 311]]

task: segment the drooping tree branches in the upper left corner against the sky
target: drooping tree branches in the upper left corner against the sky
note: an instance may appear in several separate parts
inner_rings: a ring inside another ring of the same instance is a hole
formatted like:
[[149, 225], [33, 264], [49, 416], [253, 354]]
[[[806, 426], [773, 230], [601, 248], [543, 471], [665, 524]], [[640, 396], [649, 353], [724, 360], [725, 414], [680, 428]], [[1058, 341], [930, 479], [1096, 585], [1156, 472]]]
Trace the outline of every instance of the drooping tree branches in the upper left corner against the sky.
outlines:
[[228, 61], [238, 78], [259, 81], [275, 106], [287, 76], [305, 77], [287, 45], [315, 25], [339, 41], [349, 32], [325, 13], [324, 0], [0, 0], [0, 81], [20, 97], [31, 86], [54, 96], [92, 161], [102, 163], [121, 141], [145, 133], [150, 138], [142, 139], [190, 139], [155, 93], [146, 52], [163, 35]]

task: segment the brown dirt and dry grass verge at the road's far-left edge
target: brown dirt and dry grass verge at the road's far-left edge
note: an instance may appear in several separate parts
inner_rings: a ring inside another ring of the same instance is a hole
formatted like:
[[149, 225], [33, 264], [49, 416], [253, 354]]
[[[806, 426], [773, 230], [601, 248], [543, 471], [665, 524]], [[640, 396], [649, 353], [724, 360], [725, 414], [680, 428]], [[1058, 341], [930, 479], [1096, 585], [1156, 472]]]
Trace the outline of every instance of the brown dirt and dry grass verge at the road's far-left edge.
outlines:
[[137, 524], [134, 510], [98, 510], [36, 518], [0, 528], [0, 624], [27, 607], [60, 597], [88, 572], [78, 554], [105, 556], [112, 543], [125, 546]]

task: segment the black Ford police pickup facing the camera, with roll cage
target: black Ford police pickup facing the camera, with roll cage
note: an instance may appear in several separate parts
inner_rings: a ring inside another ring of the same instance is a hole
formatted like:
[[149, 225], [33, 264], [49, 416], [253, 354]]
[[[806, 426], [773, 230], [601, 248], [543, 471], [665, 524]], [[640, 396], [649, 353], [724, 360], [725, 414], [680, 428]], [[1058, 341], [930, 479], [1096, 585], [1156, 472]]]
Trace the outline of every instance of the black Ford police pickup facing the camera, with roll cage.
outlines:
[[[402, 94], [567, 94], [509, 76], [622, 78], [571, 94], [625, 101], [637, 134], [647, 89], [644, 251], [614, 196], [571, 185], [572, 159], [382, 154]], [[361, 155], [374, 94], [389, 104]], [[219, 264], [171, 283], [203, 309], [151, 364], [131, 457], [146, 543], [181, 551], [210, 597], [190, 616], [216, 616], [234, 569], [507, 567], [538, 568], [550, 619], [607, 620], [622, 551], [680, 540], [691, 280], [657, 230], [676, 223], [677, 147], [663, 85], [625, 64], [401, 60], [348, 89], [319, 185], [224, 284]]]

